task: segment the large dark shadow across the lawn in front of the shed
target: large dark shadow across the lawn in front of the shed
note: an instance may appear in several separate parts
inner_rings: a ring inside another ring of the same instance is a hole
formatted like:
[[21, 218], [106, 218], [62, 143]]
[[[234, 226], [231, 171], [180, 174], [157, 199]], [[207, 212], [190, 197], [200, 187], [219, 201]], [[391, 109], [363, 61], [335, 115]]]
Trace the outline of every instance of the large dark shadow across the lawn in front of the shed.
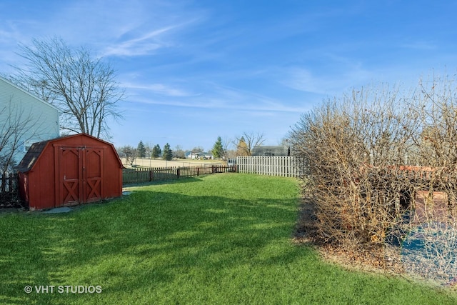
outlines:
[[[303, 250], [278, 252], [274, 244], [288, 240], [295, 218], [295, 199], [155, 191], [134, 191], [70, 214], [11, 215], [1, 226], [9, 234], [0, 243], [0, 303], [85, 303], [102, 295], [116, 301], [126, 291], [166, 290], [186, 277], [222, 280], [240, 266], [287, 264]], [[26, 294], [26, 285], [100, 285], [103, 294]]]

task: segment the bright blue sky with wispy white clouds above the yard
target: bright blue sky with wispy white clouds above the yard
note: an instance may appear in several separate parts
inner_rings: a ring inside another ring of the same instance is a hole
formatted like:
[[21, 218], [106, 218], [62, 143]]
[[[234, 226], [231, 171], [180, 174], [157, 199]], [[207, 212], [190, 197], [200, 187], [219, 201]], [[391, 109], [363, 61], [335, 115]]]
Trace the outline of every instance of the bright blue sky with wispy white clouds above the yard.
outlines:
[[60, 36], [116, 69], [116, 146], [208, 150], [217, 136], [276, 145], [351, 88], [455, 74], [457, 1], [0, 0], [0, 72], [18, 44]]

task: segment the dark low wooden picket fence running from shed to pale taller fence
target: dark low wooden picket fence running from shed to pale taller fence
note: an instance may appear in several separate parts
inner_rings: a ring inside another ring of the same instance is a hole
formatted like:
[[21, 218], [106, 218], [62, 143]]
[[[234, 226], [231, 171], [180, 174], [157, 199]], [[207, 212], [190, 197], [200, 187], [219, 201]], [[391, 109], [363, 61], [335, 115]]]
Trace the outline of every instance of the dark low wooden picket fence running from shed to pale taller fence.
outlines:
[[236, 165], [135, 168], [124, 169], [122, 171], [122, 181], [124, 185], [139, 184], [151, 181], [167, 181], [235, 171]]

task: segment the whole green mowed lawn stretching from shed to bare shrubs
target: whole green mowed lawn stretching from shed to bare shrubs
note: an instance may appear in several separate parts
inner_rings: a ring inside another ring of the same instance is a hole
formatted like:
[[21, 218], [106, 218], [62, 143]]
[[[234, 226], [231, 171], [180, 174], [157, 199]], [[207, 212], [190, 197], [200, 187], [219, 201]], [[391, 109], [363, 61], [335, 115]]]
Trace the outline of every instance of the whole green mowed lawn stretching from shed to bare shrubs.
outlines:
[[[69, 214], [0, 215], [0, 304], [457, 302], [450, 292], [345, 271], [293, 244], [294, 179], [216, 174], [131, 190]], [[39, 285], [56, 287], [36, 293]], [[65, 285], [102, 291], [57, 290]]]

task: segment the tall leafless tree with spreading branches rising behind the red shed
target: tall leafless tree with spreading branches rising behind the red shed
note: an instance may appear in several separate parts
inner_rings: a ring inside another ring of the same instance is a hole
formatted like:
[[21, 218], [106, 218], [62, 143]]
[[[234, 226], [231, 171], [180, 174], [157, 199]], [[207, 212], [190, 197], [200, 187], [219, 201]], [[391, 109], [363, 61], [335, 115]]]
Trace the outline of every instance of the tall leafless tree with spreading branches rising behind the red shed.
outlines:
[[106, 119], [121, 118], [117, 105], [124, 99], [110, 64], [84, 47], [70, 49], [57, 38], [34, 39], [31, 46], [19, 48], [27, 64], [10, 79], [57, 106], [61, 129], [109, 137]]

